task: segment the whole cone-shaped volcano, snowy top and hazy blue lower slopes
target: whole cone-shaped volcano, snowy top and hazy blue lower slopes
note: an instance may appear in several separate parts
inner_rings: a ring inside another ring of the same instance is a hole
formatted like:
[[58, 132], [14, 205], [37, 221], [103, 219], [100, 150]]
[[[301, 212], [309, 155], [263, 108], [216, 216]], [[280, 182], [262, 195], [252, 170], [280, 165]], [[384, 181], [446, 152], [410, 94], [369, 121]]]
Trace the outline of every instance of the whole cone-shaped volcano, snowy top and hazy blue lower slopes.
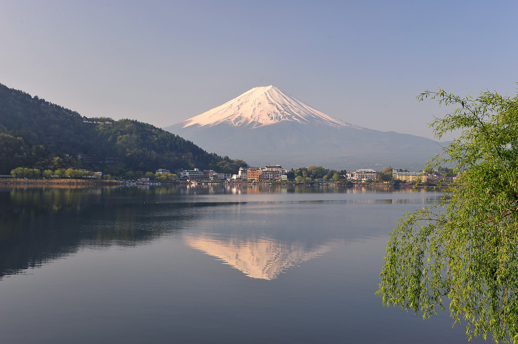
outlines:
[[427, 138], [339, 121], [272, 85], [254, 87], [164, 129], [251, 166], [421, 169], [441, 152], [440, 144]]

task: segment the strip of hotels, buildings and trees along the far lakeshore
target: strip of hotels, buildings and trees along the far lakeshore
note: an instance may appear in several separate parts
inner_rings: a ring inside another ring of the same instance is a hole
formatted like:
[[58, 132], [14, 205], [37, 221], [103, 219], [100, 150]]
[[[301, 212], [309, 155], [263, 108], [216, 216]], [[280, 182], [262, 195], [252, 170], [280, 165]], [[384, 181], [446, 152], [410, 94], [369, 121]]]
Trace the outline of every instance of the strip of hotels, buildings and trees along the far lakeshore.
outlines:
[[101, 171], [81, 169], [38, 169], [16, 168], [11, 175], [0, 176], [3, 184], [162, 184], [162, 183], [276, 183], [305, 185], [353, 185], [353, 184], [423, 184], [434, 185], [439, 180], [456, 178], [452, 170], [439, 168], [430, 171], [408, 171], [387, 167], [381, 171], [357, 169], [355, 171], [325, 169], [321, 166], [301, 167], [297, 170], [283, 169], [280, 164], [266, 164], [264, 167], [240, 167], [238, 173], [223, 173], [215, 170], [180, 170], [172, 173], [160, 168], [155, 172], [132, 172], [119, 177], [103, 174]]

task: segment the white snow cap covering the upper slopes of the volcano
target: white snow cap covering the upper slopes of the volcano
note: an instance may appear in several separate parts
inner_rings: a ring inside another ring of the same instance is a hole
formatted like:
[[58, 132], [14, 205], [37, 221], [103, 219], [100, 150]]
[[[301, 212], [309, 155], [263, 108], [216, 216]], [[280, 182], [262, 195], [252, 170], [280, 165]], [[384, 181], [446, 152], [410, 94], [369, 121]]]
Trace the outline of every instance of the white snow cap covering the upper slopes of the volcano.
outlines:
[[185, 128], [192, 125], [213, 126], [226, 123], [235, 127], [257, 128], [282, 121], [332, 127], [351, 125], [286, 95], [273, 85], [254, 87], [219, 107], [187, 119], [182, 125]]

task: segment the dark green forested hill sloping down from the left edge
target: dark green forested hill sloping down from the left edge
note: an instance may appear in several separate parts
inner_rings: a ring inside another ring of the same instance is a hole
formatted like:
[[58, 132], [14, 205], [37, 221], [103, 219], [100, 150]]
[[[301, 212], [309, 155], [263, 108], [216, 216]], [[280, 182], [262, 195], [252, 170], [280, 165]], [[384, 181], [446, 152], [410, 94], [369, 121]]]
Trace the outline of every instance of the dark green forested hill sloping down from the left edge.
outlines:
[[[78, 155], [83, 156], [78, 161]], [[207, 153], [150, 124], [75, 111], [0, 84], [0, 174], [15, 167], [51, 168], [59, 157], [71, 167], [112, 174], [166, 168], [236, 173], [244, 161]], [[87, 157], [87, 158], [84, 158]]]

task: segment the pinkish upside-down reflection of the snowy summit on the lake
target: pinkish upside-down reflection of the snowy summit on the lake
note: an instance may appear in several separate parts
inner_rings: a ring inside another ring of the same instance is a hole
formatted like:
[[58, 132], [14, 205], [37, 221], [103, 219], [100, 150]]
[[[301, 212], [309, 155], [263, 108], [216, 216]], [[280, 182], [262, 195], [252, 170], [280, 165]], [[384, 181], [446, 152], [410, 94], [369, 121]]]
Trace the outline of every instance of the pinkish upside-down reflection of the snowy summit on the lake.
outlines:
[[331, 249], [331, 245], [308, 247], [300, 242], [285, 243], [260, 238], [222, 240], [210, 235], [186, 236], [185, 242], [224, 261], [252, 278], [275, 279], [284, 270], [297, 266]]

